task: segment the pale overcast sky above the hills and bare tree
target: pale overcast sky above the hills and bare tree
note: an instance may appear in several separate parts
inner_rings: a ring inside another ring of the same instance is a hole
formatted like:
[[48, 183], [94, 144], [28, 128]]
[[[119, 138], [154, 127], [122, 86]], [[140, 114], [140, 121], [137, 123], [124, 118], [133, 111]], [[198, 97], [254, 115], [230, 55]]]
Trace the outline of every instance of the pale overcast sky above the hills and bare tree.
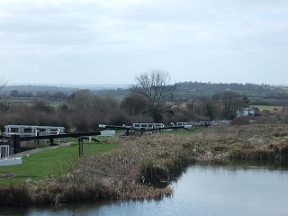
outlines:
[[0, 0], [8, 84], [288, 84], [288, 0]]

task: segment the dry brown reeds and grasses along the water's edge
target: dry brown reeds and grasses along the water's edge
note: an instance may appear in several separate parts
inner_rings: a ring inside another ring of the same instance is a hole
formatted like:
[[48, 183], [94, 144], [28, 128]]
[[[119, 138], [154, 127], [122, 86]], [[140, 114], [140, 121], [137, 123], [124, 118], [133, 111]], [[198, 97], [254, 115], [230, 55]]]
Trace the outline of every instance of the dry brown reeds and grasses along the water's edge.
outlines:
[[284, 124], [216, 126], [199, 133], [131, 137], [118, 140], [117, 147], [105, 154], [83, 157], [60, 176], [1, 187], [0, 205], [159, 199], [171, 195], [167, 185], [197, 161], [280, 163], [287, 159], [288, 126]]

